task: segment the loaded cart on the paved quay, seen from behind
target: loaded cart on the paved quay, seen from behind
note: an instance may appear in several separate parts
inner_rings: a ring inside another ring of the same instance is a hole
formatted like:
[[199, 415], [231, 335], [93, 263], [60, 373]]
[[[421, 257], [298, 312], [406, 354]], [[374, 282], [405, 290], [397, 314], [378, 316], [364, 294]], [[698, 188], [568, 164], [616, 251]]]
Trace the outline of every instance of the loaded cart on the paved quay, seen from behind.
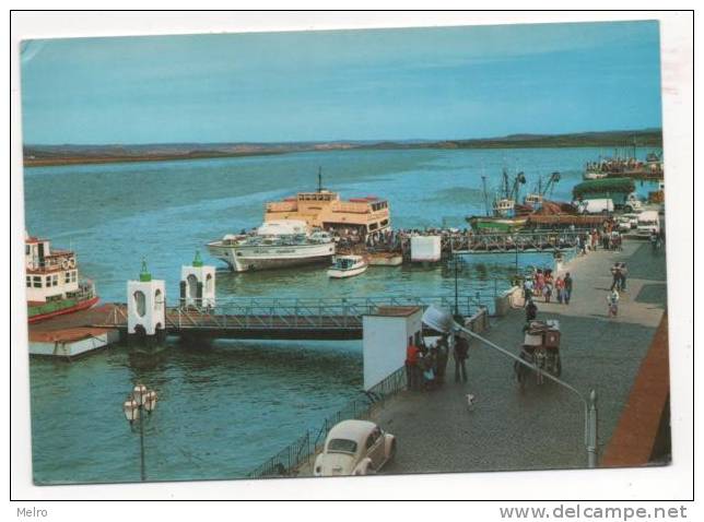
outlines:
[[[560, 321], [530, 321], [525, 328], [524, 344], [520, 347], [519, 357], [526, 363], [535, 366], [536, 381], [543, 382], [543, 372], [554, 377], [562, 373], [562, 361], [560, 360]], [[516, 381], [523, 385], [532, 370], [526, 365], [514, 363]]]

